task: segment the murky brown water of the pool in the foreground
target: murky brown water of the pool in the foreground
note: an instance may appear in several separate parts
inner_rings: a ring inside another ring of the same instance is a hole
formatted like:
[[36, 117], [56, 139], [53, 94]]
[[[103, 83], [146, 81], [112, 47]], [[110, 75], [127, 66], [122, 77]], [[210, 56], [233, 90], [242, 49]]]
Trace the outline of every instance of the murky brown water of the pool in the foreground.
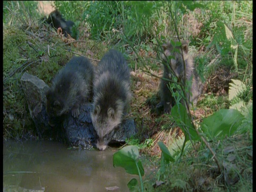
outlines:
[[113, 167], [117, 151], [67, 149], [53, 141], [3, 142], [4, 191], [129, 191], [130, 175]]

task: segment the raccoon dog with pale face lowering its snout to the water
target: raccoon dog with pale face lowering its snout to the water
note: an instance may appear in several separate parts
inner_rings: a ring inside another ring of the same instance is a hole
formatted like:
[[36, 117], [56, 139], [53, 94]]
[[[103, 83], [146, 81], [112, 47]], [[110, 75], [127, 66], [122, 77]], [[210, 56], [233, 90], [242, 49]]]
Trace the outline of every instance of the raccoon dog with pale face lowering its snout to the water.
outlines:
[[95, 70], [93, 94], [91, 117], [98, 134], [96, 146], [105, 150], [131, 100], [130, 69], [118, 51], [110, 50], [99, 62]]

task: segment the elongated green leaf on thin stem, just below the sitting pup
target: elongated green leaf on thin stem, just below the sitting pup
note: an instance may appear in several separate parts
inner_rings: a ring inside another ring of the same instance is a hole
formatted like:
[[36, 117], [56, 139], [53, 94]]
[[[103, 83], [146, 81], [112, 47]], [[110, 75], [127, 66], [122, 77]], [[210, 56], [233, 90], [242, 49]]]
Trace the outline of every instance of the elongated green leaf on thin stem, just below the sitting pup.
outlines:
[[185, 142], [188, 140], [199, 140], [196, 130], [194, 129], [191, 119], [188, 116], [186, 108], [179, 103], [171, 109], [172, 117], [177, 125], [180, 127], [182, 132], [185, 134]]

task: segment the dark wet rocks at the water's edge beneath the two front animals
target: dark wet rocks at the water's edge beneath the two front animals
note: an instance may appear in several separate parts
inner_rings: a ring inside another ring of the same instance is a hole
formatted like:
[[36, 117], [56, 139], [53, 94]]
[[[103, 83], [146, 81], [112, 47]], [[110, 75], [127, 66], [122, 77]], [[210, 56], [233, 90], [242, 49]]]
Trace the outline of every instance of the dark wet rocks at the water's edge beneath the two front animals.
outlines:
[[[92, 103], [81, 106], [78, 118], [74, 118], [70, 112], [55, 118], [51, 127], [45, 108], [45, 90], [49, 86], [36, 76], [27, 73], [21, 77], [21, 84], [40, 138], [58, 140], [73, 147], [86, 149], [94, 147], [97, 133], [91, 120]], [[124, 119], [115, 130], [112, 142], [125, 142], [126, 138], [130, 138], [136, 132], [134, 119]]]

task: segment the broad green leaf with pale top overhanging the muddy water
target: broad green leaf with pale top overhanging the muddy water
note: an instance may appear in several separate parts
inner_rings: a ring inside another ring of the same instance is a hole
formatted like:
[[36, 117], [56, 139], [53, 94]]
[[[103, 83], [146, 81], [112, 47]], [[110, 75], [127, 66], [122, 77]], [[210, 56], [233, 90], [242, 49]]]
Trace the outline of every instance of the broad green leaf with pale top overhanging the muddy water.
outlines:
[[113, 155], [113, 166], [121, 166], [127, 173], [141, 176], [145, 174], [141, 161], [138, 161], [139, 150], [136, 146], [127, 146]]

